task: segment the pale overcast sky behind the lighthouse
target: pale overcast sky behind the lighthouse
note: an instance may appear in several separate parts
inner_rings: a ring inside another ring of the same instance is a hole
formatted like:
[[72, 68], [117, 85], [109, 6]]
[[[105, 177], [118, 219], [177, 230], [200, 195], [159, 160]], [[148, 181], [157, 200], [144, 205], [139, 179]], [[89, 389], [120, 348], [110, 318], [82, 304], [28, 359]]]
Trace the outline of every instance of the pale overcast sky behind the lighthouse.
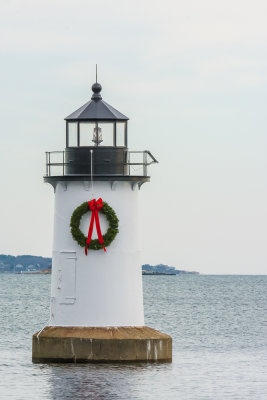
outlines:
[[90, 99], [159, 159], [142, 186], [144, 263], [267, 273], [266, 0], [1, 0], [0, 253], [51, 256], [44, 152]]

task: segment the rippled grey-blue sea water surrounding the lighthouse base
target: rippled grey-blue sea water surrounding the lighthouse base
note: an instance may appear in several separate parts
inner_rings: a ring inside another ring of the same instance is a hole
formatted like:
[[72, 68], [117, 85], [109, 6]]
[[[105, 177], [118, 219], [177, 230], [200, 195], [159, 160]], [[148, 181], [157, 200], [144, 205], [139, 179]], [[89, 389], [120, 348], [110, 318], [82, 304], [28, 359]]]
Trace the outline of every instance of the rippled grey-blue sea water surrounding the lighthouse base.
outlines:
[[0, 398], [267, 399], [267, 276], [145, 276], [146, 324], [172, 364], [32, 364], [50, 276], [0, 275]]

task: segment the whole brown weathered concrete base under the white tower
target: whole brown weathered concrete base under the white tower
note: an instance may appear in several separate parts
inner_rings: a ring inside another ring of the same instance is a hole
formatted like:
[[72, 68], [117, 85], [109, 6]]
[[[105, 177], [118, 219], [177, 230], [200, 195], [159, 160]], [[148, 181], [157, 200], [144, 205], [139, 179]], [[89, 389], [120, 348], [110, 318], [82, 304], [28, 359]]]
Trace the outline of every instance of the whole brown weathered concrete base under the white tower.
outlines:
[[147, 326], [47, 326], [32, 338], [32, 361], [47, 362], [171, 362], [172, 338]]

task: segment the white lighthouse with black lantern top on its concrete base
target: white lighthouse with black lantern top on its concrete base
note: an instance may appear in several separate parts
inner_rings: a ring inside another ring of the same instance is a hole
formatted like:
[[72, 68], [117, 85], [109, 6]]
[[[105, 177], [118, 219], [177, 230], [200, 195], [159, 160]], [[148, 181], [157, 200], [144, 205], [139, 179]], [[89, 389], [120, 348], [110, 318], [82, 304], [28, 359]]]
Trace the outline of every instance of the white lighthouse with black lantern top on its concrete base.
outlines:
[[150, 151], [128, 149], [128, 117], [91, 99], [65, 118], [66, 147], [46, 153], [54, 189], [49, 323], [34, 362], [170, 361], [172, 339], [145, 326], [139, 197]]

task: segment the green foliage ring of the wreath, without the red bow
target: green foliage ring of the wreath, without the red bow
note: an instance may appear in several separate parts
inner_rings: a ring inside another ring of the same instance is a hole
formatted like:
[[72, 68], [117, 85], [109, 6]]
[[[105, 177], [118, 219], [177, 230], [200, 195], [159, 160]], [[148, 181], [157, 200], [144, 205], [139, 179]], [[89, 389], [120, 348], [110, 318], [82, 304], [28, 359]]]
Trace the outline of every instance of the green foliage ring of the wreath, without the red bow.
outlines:
[[[90, 209], [88, 202], [85, 201], [73, 211], [70, 220], [72, 237], [81, 247], [87, 246], [87, 237], [84, 236], [83, 232], [80, 230], [80, 222], [82, 216], [89, 211]], [[101, 210], [99, 210], [99, 213], [104, 214], [109, 222], [109, 228], [107, 232], [103, 235], [104, 246], [107, 247], [110, 245], [111, 242], [113, 242], [117, 233], [119, 232], [119, 220], [113, 208], [111, 208], [105, 201], [103, 201], [103, 207], [101, 208]], [[100, 250], [103, 249], [103, 245], [99, 243], [98, 239], [92, 239], [88, 249]]]

